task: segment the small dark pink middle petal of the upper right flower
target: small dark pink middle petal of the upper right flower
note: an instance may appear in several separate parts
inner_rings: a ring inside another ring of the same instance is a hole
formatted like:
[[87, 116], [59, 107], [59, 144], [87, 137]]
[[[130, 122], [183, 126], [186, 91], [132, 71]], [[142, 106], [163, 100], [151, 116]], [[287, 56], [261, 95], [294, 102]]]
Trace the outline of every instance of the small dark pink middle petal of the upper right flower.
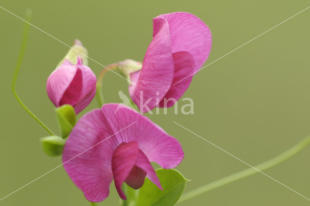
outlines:
[[[172, 107], [174, 103], [186, 92], [193, 78], [194, 58], [187, 51], [172, 54], [174, 60], [174, 76], [172, 85], [159, 102], [159, 107]], [[174, 85], [175, 84], [175, 85]]]

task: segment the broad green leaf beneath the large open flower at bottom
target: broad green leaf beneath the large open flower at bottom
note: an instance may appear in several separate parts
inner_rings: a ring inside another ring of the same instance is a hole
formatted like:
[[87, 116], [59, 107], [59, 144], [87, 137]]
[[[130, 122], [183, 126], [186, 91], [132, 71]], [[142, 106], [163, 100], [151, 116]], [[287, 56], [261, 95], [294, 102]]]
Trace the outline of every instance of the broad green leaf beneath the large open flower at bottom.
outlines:
[[124, 185], [127, 200], [123, 206], [173, 206], [181, 197], [188, 180], [174, 169], [158, 169], [156, 174], [164, 190], [160, 190], [149, 179], [139, 190]]

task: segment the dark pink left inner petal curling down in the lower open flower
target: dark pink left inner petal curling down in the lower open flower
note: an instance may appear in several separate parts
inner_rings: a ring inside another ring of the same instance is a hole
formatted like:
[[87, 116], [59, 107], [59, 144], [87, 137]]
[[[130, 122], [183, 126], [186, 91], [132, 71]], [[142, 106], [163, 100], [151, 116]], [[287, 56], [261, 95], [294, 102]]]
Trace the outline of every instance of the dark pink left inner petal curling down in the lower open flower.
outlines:
[[112, 172], [115, 188], [123, 200], [126, 200], [126, 196], [122, 185], [136, 163], [138, 150], [136, 142], [121, 143], [113, 153]]

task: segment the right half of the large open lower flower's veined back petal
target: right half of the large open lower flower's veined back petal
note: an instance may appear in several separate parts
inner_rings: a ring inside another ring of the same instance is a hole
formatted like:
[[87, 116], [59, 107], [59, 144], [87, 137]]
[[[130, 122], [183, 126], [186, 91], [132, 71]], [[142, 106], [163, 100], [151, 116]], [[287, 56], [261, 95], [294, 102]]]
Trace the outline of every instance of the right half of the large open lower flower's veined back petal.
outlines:
[[182, 161], [182, 146], [175, 138], [137, 111], [124, 105], [117, 108], [118, 104], [106, 104], [101, 110], [111, 130], [118, 132], [115, 139], [119, 143], [137, 142], [149, 161], [165, 169], [174, 168]]

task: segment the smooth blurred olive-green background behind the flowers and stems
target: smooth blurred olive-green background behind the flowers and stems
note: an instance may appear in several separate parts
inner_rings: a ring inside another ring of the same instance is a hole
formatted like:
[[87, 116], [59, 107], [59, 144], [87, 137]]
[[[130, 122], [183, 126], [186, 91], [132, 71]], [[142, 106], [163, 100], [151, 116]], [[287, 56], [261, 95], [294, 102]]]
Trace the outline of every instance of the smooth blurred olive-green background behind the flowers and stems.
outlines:
[[[71, 45], [75, 38], [91, 58], [108, 65], [126, 58], [142, 61], [152, 39], [152, 17], [184, 11], [211, 29], [213, 47], [207, 63], [309, 6], [308, 0], [156, 0], [73, 1], [1, 0], [0, 6], [24, 17], [32, 9], [35, 26]], [[248, 166], [199, 139], [187, 127], [251, 165], [272, 158], [310, 133], [310, 10], [283, 23], [199, 72], [184, 97], [194, 100], [194, 114], [148, 115], [183, 145], [177, 167], [191, 179], [186, 191]], [[39, 138], [48, 136], [18, 105], [11, 78], [24, 23], [0, 9], [0, 198], [60, 165], [47, 157]], [[25, 104], [58, 132], [46, 80], [68, 48], [31, 27], [16, 88]], [[102, 66], [90, 61], [98, 75]], [[107, 102], [121, 102], [127, 83], [109, 73], [103, 84]], [[178, 111], [186, 102], [179, 101]], [[96, 108], [96, 101], [85, 110]], [[84, 112], [83, 112], [84, 113]], [[81, 114], [78, 115], [79, 117]], [[266, 174], [310, 197], [310, 146]], [[116, 206], [118, 195], [99, 206]], [[0, 202], [2, 206], [85, 206], [82, 192], [63, 168], [38, 179]], [[180, 206], [306, 206], [309, 201], [264, 176], [212, 190]]]

